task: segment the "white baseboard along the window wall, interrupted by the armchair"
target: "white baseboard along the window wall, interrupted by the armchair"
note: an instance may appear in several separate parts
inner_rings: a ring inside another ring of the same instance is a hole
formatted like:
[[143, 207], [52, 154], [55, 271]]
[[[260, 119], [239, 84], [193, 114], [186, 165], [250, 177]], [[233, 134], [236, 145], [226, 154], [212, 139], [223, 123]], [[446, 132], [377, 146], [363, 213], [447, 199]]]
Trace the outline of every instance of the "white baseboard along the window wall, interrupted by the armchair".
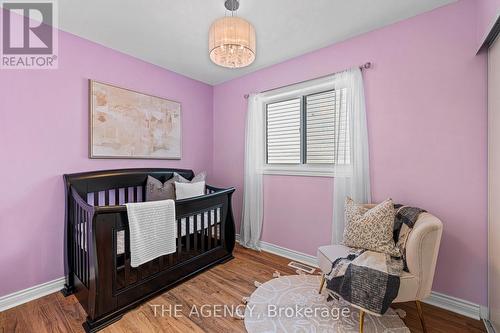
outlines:
[[[236, 235], [237, 242], [240, 240], [239, 236], [240, 235]], [[313, 267], [318, 267], [316, 256], [290, 250], [264, 241], [260, 242], [260, 247], [262, 251], [270, 252], [295, 261], [300, 261]], [[431, 296], [423, 302], [473, 319], [479, 320], [481, 318], [487, 318], [488, 310], [486, 307], [435, 291], [433, 291]]]

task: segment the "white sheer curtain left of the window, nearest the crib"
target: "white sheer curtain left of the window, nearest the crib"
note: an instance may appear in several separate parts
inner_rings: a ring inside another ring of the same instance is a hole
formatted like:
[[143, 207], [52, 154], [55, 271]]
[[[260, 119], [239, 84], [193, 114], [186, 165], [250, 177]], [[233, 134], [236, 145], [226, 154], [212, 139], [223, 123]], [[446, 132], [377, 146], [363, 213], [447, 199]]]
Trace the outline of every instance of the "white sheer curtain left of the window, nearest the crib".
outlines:
[[262, 168], [264, 165], [264, 111], [259, 95], [248, 97], [245, 135], [245, 180], [240, 244], [260, 250], [263, 198]]

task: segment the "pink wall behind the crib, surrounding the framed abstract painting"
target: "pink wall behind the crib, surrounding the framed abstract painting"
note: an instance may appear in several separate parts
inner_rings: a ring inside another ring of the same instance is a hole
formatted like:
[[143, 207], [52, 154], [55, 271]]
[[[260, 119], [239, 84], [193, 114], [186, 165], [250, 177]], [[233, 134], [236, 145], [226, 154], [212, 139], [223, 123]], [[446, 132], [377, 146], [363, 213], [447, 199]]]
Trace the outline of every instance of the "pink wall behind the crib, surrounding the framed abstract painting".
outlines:
[[[183, 158], [90, 160], [92, 78], [182, 103]], [[67, 33], [59, 69], [0, 73], [0, 296], [64, 275], [62, 174], [212, 166], [213, 88]]]

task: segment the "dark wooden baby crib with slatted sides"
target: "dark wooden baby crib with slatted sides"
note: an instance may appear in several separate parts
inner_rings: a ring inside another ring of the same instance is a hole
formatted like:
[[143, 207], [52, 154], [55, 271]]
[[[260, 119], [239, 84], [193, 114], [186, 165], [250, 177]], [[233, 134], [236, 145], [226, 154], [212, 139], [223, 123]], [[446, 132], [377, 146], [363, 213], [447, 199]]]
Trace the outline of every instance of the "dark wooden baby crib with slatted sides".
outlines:
[[235, 243], [234, 188], [206, 187], [206, 195], [176, 201], [177, 251], [130, 266], [127, 209], [141, 202], [148, 175], [162, 182], [191, 170], [124, 169], [64, 175], [66, 187], [64, 295], [75, 294], [87, 312], [85, 331], [96, 332], [129, 309], [176, 283], [231, 258]]

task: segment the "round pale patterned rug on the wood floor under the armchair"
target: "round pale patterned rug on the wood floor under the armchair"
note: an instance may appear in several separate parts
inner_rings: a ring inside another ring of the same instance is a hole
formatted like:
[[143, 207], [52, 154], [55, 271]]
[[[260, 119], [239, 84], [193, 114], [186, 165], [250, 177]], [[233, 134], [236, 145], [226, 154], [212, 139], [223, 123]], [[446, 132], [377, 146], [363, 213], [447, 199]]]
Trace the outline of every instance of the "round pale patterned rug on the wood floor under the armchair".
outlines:
[[[249, 333], [358, 332], [359, 310], [336, 300], [327, 303], [325, 292], [318, 294], [319, 283], [317, 275], [282, 276], [263, 283], [248, 299], [245, 328]], [[410, 332], [392, 309], [382, 317], [365, 315], [364, 331]]]

